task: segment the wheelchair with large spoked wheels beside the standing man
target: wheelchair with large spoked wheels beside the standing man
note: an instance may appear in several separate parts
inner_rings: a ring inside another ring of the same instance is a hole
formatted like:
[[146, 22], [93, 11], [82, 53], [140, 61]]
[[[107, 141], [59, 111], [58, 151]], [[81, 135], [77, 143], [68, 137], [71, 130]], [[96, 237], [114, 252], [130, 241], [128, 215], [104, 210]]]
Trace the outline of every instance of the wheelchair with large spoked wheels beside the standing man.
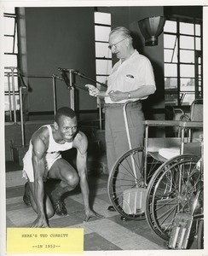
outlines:
[[[191, 142], [190, 131], [201, 129], [203, 123], [147, 120], [144, 123], [144, 147], [131, 148], [125, 112], [127, 104], [128, 102], [124, 104], [124, 120], [130, 150], [121, 155], [113, 166], [107, 182], [108, 196], [113, 207], [124, 218], [146, 218], [150, 228], [165, 241], [169, 241], [178, 212], [192, 212], [193, 216], [195, 206], [199, 216], [202, 216], [203, 172], [199, 167], [202, 161], [199, 156], [200, 142]], [[153, 126], [179, 127], [181, 137], [148, 137], [149, 127]], [[170, 148], [175, 156], [168, 160], [166, 155], [164, 157], [159, 154], [164, 148]], [[199, 222], [200, 230], [203, 230], [202, 225]]]

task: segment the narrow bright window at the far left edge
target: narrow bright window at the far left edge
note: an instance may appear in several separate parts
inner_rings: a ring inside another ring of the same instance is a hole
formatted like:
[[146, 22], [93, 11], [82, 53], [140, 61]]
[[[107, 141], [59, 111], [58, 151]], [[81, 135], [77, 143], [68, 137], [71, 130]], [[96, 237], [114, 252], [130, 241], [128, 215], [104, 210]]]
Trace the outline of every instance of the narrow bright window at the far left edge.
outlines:
[[[17, 76], [17, 19], [14, 8], [5, 8], [4, 14], [4, 109], [6, 114], [20, 109]], [[6, 118], [7, 120], [7, 118]]]

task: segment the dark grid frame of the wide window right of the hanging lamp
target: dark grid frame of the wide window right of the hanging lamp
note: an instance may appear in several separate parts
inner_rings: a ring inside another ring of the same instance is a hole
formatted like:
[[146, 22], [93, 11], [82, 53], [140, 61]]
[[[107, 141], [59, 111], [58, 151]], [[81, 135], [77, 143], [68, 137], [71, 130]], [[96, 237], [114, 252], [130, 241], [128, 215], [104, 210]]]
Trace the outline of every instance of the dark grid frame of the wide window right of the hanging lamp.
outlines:
[[[188, 18], [182, 18], [182, 17], [168, 17], [166, 18], [166, 21], [170, 20], [170, 21], [175, 21], [176, 22], [176, 31], [173, 32], [167, 32], [164, 30], [164, 40], [165, 40], [165, 35], [170, 35], [170, 36], [174, 36], [176, 37], [176, 42], [174, 42], [174, 48], [172, 48], [173, 52], [175, 52], [176, 50], [176, 55], [175, 55], [175, 59], [173, 61], [173, 58], [171, 59], [171, 61], [167, 61], [164, 60], [164, 70], [165, 70], [165, 66], [169, 65], [169, 64], [176, 64], [176, 77], [171, 77], [171, 76], [166, 76], [165, 77], [165, 82], [168, 79], [176, 79], [176, 88], [171, 90], [171, 86], [169, 89], [167, 89], [165, 87], [165, 106], [168, 105], [172, 105], [178, 108], [181, 108], [182, 106], [185, 106], [187, 104], [183, 104], [182, 100], [186, 95], [191, 95], [194, 94], [194, 99], [195, 98], [201, 98], [203, 97], [203, 74], [202, 74], [202, 21], [201, 20], [194, 20], [193, 19], [188, 19]], [[193, 24], [194, 25], [194, 34], [190, 35], [190, 33], [184, 33], [184, 32], [180, 32], [180, 24], [182, 23], [188, 23], [188, 24]], [[200, 26], [200, 35], [197, 35], [197, 31], [196, 31], [196, 25]], [[191, 37], [194, 38], [194, 49], [184, 49], [181, 47], [180, 45], [180, 37]], [[196, 38], [200, 38], [200, 50], [196, 49]], [[165, 47], [164, 45], [164, 55], [167, 56], [167, 51], [170, 50], [170, 48]], [[194, 51], [194, 63], [188, 63], [188, 62], [182, 62], [181, 61], [181, 57], [182, 57], [182, 50], [192, 50]], [[165, 52], [166, 51], [166, 52]], [[197, 52], [200, 51], [200, 64], [197, 63], [197, 59], [196, 59], [196, 55]], [[165, 57], [166, 59], [166, 57]], [[188, 67], [188, 65], [194, 66], [194, 77], [186, 77], [186, 76], [182, 76], [182, 65], [184, 65], [183, 67]], [[199, 72], [197, 70], [197, 65], [198, 68], [200, 66], [200, 70], [201, 73], [199, 75]], [[198, 77], [196, 77], [196, 75], [198, 75]], [[182, 90], [182, 79], [190, 79], [190, 81], [192, 81], [192, 79], [194, 79], [194, 90]], [[170, 84], [169, 84], [170, 85]], [[174, 87], [173, 87], [174, 88]], [[169, 96], [169, 98], [173, 98], [173, 102], [167, 102], [167, 96]], [[188, 102], [188, 105], [190, 105], [191, 102]]]

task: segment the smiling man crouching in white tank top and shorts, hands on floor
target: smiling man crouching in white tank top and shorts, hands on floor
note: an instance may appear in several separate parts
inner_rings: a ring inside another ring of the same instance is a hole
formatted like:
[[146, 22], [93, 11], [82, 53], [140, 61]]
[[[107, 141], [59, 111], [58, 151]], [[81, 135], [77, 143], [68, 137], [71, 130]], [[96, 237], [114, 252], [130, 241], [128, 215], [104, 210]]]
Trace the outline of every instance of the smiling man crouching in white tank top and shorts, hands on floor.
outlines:
[[[61, 151], [70, 148], [77, 148], [78, 172], [61, 158]], [[82, 131], [78, 131], [77, 117], [71, 108], [60, 108], [55, 115], [54, 125], [43, 125], [34, 132], [23, 159], [23, 176], [28, 180], [23, 200], [27, 205], [32, 205], [38, 214], [32, 227], [49, 227], [48, 218], [55, 213], [67, 215], [61, 195], [75, 189], [79, 182], [84, 200], [84, 220], [88, 221], [90, 217], [102, 217], [90, 210], [87, 148], [87, 137]], [[50, 198], [44, 192], [44, 181], [48, 177], [61, 180], [52, 191]]]

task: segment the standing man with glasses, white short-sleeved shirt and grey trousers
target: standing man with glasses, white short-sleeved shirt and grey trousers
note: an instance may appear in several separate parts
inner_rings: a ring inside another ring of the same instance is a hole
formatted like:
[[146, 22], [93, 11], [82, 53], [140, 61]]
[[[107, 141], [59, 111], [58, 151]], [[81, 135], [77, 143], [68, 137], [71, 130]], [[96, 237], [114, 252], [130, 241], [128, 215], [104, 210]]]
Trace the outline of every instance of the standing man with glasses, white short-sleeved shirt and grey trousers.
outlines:
[[[156, 86], [151, 62], [134, 49], [128, 29], [123, 26], [114, 28], [109, 34], [108, 48], [119, 61], [108, 77], [107, 91], [98, 90], [91, 84], [86, 84], [86, 87], [89, 88], [91, 96], [105, 97], [107, 167], [111, 172], [118, 157], [130, 149], [124, 125], [124, 103], [130, 101], [126, 111], [132, 147], [142, 147], [144, 138], [142, 100], [153, 94]], [[108, 207], [108, 210], [114, 211], [113, 206]]]

